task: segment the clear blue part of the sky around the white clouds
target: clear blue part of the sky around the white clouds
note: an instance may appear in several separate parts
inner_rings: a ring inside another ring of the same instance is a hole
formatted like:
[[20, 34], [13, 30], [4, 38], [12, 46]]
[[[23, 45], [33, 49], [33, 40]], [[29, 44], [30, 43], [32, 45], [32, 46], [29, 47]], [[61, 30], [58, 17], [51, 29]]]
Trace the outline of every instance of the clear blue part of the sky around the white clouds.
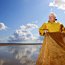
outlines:
[[[28, 23], [40, 27], [48, 20], [50, 2], [53, 0], [0, 0], [0, 23], [7, 26], [6, 30], [0, 31], [0, 40], [7, 40], [20, 26]], [[64, 11], [56, 7], [52, 9], [57, 14], [58, 21], [65, 25]], [[32, 31], [32, 34], [36, 37], [38, 29]]]

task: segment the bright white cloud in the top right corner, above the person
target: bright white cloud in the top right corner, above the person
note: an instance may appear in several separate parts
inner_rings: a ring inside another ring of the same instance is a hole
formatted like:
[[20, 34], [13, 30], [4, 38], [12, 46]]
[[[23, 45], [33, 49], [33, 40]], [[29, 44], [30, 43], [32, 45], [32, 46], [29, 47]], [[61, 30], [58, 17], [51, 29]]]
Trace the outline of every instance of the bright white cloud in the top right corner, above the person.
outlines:
[[49, 3], [50, 7], [57, 7], [58, 9], [65, 11], [65, 0], [54, 0]]

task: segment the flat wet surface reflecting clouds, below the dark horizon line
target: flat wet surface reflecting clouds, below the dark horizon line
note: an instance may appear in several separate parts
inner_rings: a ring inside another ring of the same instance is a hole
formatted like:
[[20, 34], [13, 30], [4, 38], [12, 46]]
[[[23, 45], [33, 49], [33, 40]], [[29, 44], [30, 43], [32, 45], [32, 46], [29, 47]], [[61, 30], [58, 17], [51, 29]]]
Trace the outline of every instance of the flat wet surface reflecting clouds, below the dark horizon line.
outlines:
[[0, 47], [0, 65], [35, 65], [41, 45]]

